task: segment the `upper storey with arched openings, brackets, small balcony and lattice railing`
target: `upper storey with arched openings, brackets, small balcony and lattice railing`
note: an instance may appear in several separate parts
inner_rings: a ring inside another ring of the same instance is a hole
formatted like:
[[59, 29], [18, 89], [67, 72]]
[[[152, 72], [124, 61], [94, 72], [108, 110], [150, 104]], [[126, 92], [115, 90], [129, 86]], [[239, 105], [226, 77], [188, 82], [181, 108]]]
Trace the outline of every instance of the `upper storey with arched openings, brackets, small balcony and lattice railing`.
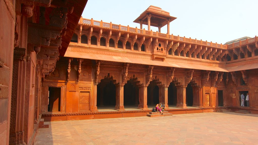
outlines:
[[258, 55], [256, 36], [245, 41], [223, 45], [82, 17], [71, 42], [146, 51], [152, 53], [152, 58], [163, 60], [170, 56], [182, 56], [214, 61], [232, 61]]

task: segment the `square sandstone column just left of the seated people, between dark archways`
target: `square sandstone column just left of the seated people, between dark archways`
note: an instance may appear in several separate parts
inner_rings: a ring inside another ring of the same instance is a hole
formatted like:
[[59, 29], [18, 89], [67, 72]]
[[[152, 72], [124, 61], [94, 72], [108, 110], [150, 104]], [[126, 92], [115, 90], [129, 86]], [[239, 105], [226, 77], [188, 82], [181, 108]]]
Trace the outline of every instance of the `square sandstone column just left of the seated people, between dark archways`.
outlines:
[[139, 86], [139, 105], [138, 109], [148, 110], [147, 106], [147, 87]]

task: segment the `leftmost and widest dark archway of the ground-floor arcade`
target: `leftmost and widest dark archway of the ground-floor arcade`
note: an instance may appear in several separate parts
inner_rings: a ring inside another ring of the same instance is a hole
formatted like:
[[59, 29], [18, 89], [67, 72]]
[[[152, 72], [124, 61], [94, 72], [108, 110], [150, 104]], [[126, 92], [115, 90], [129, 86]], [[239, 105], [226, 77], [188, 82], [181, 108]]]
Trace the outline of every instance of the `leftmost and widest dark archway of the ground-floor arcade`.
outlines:
[[116, 105], [116, 86], [109, 78], [104, 78], [97, 85], [97, 106]]

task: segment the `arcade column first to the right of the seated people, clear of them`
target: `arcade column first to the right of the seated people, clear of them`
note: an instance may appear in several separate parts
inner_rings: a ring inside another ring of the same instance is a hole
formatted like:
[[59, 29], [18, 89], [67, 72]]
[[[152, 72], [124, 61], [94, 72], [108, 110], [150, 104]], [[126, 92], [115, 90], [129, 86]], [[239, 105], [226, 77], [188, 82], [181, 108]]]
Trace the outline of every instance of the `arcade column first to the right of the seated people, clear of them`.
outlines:
[[177, 103], [176, 107], [178, 108], [187, 108], [186, 107], [186, 87], [181, 85], [176, 87]]

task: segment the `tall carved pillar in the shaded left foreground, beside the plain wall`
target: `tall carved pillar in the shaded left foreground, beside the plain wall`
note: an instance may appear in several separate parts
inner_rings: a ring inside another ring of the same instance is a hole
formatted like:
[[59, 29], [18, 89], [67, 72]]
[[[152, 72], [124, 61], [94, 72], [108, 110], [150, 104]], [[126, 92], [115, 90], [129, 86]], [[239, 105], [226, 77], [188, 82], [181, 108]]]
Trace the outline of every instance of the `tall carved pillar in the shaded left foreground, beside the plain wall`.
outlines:
[[10, 115], [9, 144], [23, 143], [24, 81], [26, 49], [15, 48], [13, 54], [13, 79]]

